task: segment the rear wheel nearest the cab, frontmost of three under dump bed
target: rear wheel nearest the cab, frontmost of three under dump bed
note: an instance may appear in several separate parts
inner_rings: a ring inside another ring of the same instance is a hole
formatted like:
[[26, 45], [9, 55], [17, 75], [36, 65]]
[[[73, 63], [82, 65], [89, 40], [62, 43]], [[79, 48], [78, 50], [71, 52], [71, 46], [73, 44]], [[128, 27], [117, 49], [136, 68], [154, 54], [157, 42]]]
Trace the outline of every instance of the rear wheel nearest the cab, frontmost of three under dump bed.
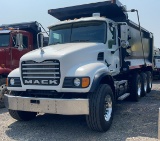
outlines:
[[138, 102], [141, 97], [141, 77], [139, 74], [134, 74], [132, 76], [131, 82], [130, 82], [130, 99], [132, 101]]

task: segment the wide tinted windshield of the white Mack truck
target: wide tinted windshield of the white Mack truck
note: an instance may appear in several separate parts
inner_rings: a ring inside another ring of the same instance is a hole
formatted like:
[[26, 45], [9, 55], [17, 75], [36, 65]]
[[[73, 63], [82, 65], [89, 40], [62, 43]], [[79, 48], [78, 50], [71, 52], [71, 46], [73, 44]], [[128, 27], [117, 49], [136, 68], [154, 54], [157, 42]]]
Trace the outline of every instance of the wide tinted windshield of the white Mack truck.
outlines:
[[50, 29], [49, 45], [73, 42], [106, 41], [106, 23], [102, 21], [78, 22], [52, 27]]

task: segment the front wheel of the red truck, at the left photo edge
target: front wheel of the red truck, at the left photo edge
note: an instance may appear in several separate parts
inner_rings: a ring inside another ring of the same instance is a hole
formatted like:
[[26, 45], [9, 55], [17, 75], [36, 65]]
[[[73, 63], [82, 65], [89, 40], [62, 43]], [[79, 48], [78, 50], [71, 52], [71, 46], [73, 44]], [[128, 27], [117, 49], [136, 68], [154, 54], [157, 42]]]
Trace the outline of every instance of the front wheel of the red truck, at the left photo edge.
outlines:
[[0, 108], [4, 108], [4, 94], [7, 90], [6, 78], [0, 78]]

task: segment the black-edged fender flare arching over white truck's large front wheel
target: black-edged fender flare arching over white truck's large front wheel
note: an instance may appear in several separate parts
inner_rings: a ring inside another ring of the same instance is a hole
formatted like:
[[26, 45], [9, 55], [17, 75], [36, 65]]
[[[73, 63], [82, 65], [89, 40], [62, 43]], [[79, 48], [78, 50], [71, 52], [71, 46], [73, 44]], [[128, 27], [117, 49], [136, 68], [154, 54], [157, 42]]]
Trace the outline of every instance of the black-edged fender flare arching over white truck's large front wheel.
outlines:
[[113, 92], [115, 92], [114, 80], [109, 72], [99, 72], [94, 76], [92, 86], [89, 92], [95, 92], [102, 81], [105, 81], [105, 84], [110, 84]]

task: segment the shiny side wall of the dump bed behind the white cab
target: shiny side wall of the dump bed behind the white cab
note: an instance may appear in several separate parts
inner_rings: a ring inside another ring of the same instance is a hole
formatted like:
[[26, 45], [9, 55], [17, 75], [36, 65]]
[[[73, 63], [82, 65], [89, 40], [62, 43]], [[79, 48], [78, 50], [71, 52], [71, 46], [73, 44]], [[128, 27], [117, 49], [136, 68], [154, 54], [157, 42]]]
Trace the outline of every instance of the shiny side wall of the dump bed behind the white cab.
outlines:
[[[122, 58], [125, 60], [125, 65], [130, 69], [136, 68], [136, 66], [152, 65], [153, 64], [153, 34], [141, 27], [142, 42], [140, 36], [140, 29], [137, 24], [130, 20], [126, 20], [129, 26], [129, 45], [128, 49], [122, 49]], [[126, 66], [126, 67], [127, 67]]]

